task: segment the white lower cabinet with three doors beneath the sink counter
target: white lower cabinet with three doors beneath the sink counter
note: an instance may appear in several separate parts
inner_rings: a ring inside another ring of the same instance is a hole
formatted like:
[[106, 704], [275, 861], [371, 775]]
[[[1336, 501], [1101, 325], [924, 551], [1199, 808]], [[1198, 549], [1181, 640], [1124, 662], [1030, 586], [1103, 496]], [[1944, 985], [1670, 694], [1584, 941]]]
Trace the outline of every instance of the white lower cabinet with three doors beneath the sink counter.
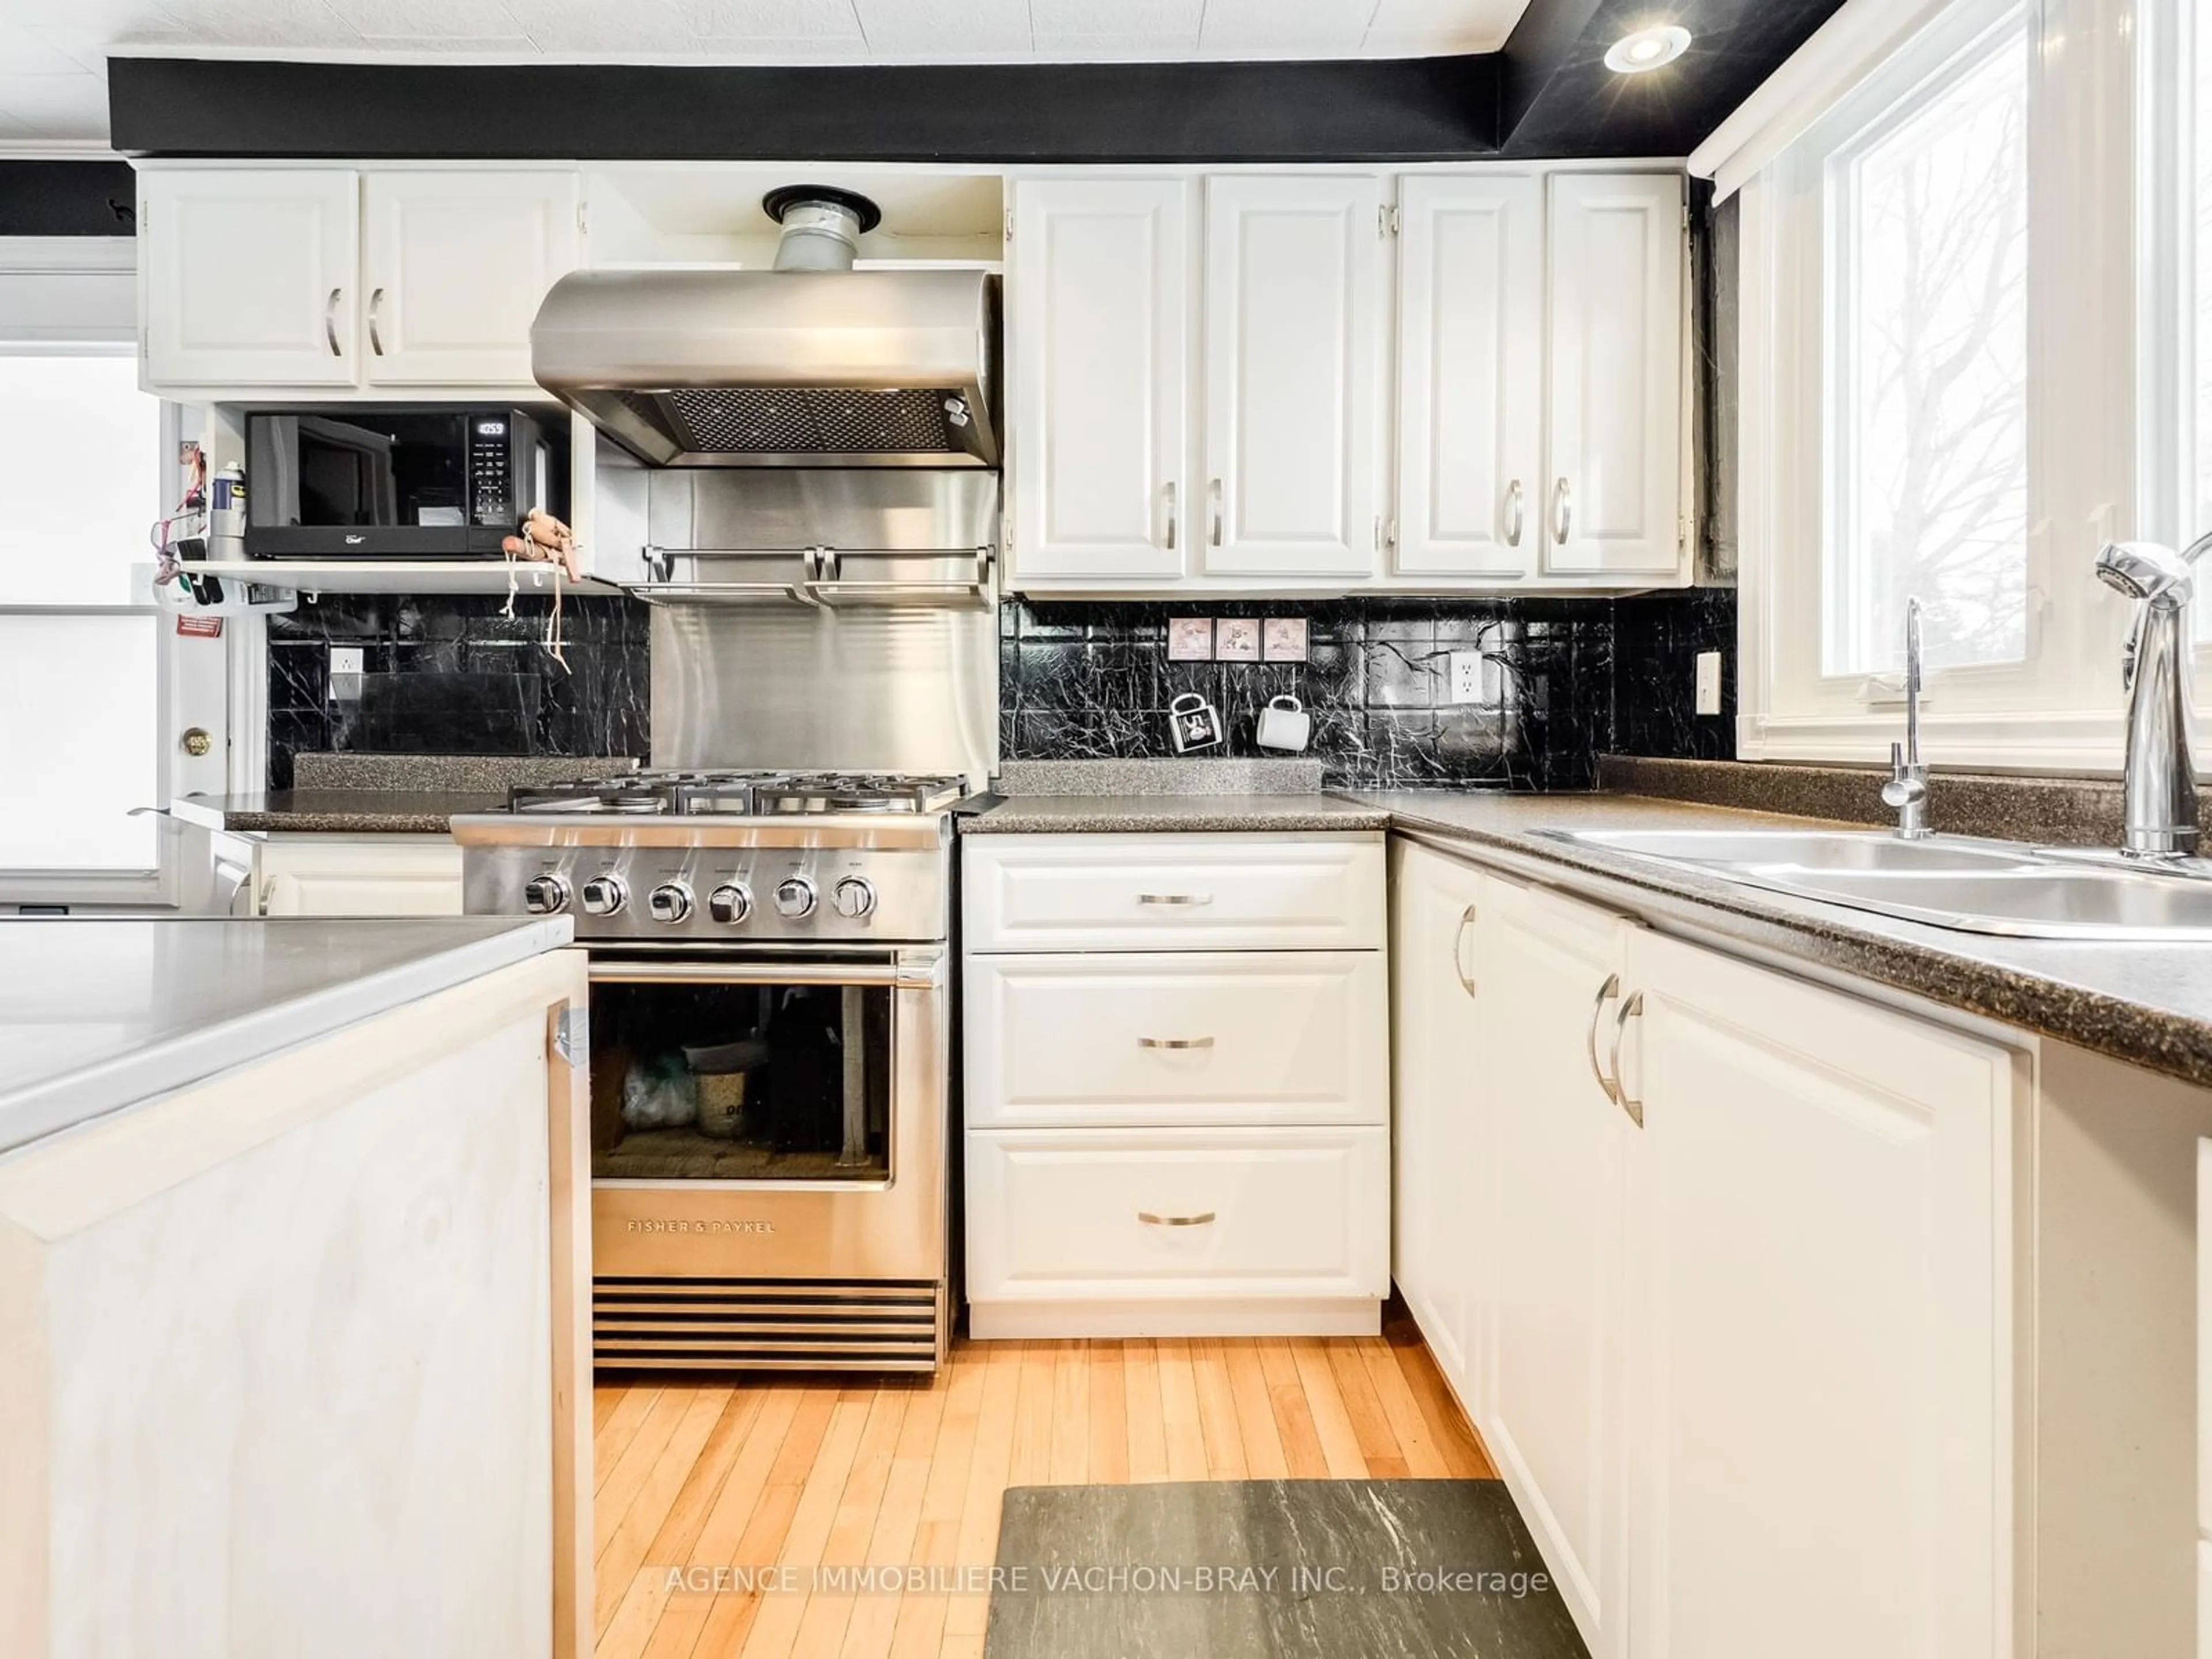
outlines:
[[2022, 1055], [1391, 867], [1398, 1287], [1590, 1652], [2020, 1652]]

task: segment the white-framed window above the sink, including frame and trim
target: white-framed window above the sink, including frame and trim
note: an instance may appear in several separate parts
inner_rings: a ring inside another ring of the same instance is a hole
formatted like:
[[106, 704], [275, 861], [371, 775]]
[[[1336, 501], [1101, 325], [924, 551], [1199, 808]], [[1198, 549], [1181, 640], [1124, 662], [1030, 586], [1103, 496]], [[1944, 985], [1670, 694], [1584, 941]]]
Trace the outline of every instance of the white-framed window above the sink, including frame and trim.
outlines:
[[[2093, 564], [2139, 533], [2137, 13], [1838, 18], [1692, 161], [1741, 192], [1739, 754], [1887, 761], [1918, 599], [1929, 759], [2115, 770], [2128, 611]], [[2192, 234], [2212, 261], [2212, 215]]]

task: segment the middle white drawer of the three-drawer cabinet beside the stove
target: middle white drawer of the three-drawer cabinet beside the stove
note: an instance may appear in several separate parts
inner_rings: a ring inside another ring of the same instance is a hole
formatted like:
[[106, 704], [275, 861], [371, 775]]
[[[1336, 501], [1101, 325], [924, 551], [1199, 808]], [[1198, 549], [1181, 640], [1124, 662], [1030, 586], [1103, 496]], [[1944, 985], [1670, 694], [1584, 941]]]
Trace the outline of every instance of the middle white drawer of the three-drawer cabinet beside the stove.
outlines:
[[1383, 1124], [1380, 951], [978, 956], [973, 1126]]

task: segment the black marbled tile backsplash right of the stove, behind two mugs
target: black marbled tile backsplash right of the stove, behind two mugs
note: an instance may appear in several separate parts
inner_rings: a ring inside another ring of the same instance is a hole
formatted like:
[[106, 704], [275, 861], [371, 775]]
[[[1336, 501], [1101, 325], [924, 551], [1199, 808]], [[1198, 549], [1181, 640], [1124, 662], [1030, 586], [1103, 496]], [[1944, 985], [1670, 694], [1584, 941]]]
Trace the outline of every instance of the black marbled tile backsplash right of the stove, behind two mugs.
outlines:
[[[1305, 664], [1168, 661], [1168, 617], [1307, 619]], [[1599, 754], [1734, 754], [1732, 588], [1630, 599], [1343, 599], [1325, 604], [1022, 602], [1000, 611], [1000, 757], [1161, 757], [1168, 703], [1197, 692], [1228, 741], [1296, 697], [1310, 754], [1354, 787], [1588, 790]], [[1482, 699], [1451, 701], [1451, 653], [1484, 661]], [[1721, 714], [1694, 710], [1694, 653], [1721, 653]]]

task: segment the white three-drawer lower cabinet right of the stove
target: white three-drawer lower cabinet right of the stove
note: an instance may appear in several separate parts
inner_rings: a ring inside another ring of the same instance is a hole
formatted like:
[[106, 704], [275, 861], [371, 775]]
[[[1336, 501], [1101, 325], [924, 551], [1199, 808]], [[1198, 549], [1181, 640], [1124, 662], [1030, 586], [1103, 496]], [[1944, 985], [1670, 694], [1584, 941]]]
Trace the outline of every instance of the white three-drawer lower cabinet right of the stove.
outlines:
[[973, 836], [962, 858], [973, 1334], [1376, 1332], [1380, 836]]

